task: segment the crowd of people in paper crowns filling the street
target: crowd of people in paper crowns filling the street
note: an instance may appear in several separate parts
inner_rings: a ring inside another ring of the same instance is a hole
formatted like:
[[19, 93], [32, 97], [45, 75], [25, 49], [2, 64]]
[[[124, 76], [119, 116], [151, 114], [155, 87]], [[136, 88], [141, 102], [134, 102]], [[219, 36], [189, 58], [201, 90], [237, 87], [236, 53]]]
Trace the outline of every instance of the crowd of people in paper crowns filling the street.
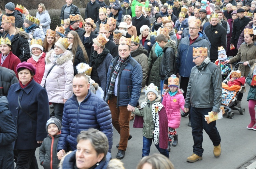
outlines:
[[[216, 121], [208, 124], [204, 115], [220, 111], [227, 87], [242, 86], [234, 104], [241, 108], [245, 82], [246, 128], [256, 130], [256, 1], [109, 3], [90, 0], [81, 16], [66, 0], [56, 29], [42, 3], [36, 16], [12, 2], [0, 10], [0, 154], [8, 152], [0, 168], [14, 168], [14, 161], [15, 168], [37, 169], [38, 147], [44, 168], [124, 168], [134, 119], [143, 128], [137, 168], [172, 169], [169, 152], [187, 115], [194, 139], [187, 161], [202, 160], [203, 129], [219, 157]], [[152, 141], [160, 154], [148, 156]]]

